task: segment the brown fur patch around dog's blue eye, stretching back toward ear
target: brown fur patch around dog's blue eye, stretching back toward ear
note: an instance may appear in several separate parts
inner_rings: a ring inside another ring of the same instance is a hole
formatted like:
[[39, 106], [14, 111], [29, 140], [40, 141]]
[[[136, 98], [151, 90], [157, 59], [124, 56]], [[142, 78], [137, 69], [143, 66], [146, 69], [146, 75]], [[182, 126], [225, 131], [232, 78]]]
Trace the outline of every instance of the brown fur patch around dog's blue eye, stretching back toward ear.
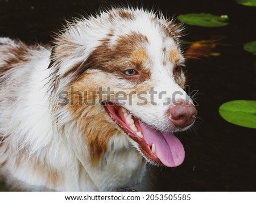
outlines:
[[[87, 69], [100, 69], [108, 73], [113, 73], [123, 77], [119, 73], [125, 70], [136, 69], [139, 71], [139, 77], [129, 77], [133, 82], [140, 83], [150, 77], [149, 70], [144, 68], [143, 60], [146, 60], [146, 53], [141, 51], [143, 43], [147, 43], [147, 37], [138, 33], [119, 37], [117, 44], [113, 48], [109, 46], [109, 39], [102, 40], [102, 44], [95, 49], [85, 62], [76, 65], [75, 80]], [[137, 54], [134, 54], [137, 53]], [[134, 58], [134, 56], [138, 58]], [[142, 58], [141, 58], [142, 57]], [[69, 71], [70, 73], [70, 71]]]

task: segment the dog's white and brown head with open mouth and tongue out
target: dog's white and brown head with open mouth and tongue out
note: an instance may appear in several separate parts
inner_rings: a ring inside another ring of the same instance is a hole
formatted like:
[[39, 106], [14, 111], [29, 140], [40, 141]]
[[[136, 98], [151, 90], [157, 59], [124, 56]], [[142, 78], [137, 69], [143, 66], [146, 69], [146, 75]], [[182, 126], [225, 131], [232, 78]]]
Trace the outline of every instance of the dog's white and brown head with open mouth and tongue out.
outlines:
[[57, 38], [55, 88], [68, 91], [57, 115], [82, 135], [70, 135], [84, 148], [81, 159], [97, 164], [135, 147], [132, 159], [168, 167], [183, 162], [183, 145], [172, 132], [189, 128], [197, 112], [183, 90], [179, 36], [180, 27], [163, 16], [127, 9], [83, 19]]

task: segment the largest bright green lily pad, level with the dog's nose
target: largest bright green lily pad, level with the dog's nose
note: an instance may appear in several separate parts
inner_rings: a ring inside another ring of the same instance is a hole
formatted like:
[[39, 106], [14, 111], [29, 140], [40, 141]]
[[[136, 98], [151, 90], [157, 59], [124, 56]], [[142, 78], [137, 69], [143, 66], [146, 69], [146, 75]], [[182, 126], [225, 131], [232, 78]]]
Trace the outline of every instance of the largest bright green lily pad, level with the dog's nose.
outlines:
[[256, 128], [256, 101], [234, 100], [226, 102], [218, 109], [221, 117], [232, 124]]

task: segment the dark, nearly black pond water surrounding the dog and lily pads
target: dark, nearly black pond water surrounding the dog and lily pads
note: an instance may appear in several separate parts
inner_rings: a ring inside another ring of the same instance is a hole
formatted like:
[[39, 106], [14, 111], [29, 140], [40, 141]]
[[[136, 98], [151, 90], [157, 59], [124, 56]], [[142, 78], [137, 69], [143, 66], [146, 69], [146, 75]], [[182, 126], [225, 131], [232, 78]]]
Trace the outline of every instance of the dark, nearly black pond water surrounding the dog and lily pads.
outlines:
[[[47, 43], [65, 19], [99, 6], [126, 1], [12, 1], [0, 0], [0, 36], [28, 43]], [[196, 97], [200, 120], [195, 130], [180, 134], [186, 158], [177, 168], [159, 168], [158, 191], [256, 191], [256, 130], [229, 124], [218, 107], [229, 100], [256, 100], [256, 57], [243, 44], [256, 40], [256, 8], [233, 0], [130, 1], [159, 7], [168, 15], [209, 12], [228, 15], [221, 28], [187, 27], [187, 41], [224, 36], [214, 52], [218, 57], [188, 61], [187, 75]], [[2, 188], [1, 188], [2, 187]], [[0, 189], [4, 189], [0, 185]]]

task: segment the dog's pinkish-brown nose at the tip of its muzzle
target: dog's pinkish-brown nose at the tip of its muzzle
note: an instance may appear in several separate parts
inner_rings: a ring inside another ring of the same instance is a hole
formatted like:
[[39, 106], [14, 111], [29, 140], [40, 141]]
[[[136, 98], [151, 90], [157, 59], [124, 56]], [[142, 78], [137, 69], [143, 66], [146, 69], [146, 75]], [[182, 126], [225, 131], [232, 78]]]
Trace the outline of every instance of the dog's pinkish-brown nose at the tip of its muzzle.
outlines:
[[197, 116], [197, 110], [191, 103], [185, 104], [184, 100], [176, 101], [168, 110], [170, 121], [179, 128], [185, 128], [191, 125]]

